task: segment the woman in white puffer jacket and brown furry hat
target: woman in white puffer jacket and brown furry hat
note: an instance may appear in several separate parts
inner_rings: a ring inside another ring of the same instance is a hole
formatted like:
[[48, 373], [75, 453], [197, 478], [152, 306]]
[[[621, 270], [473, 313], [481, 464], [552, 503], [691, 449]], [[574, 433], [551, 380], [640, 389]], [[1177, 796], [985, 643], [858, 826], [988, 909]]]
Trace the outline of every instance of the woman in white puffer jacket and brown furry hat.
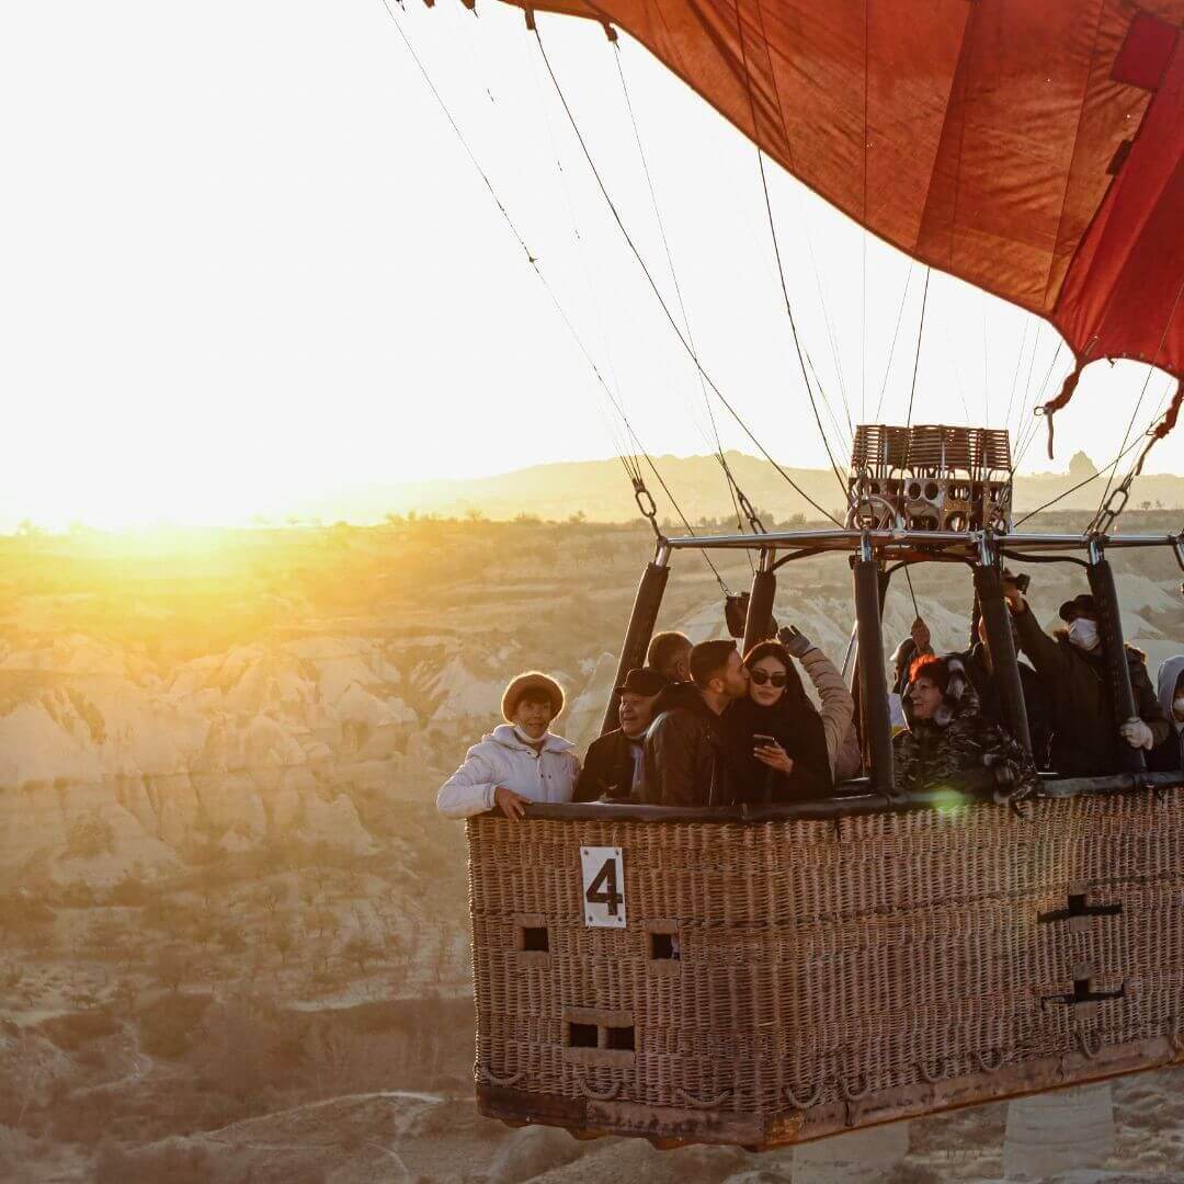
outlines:
[[514, 678], [502, 696], [506, 722], [469, 749], [440, 786], [436, 809], [448, 818], [468, 818], [496, 806], [516, 822], [527, 802], [571, 802], [580, 772], [575, 746], [549, 731], [562, 709], [564, 691], [554, 678], [538, 670]]

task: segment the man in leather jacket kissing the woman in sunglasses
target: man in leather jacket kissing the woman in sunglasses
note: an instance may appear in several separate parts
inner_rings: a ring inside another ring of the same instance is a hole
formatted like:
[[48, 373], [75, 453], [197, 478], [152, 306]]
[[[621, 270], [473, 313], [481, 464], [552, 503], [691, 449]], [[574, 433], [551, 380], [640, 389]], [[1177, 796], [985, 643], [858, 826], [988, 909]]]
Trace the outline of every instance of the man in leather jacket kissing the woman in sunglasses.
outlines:
[[667, 687], [645, 736], [642, 796], [649, 805], [726, 806], [736, 778], [720, 721], [748, 691], [735, 642], [702, 642], [690, 651], [689, 683]]

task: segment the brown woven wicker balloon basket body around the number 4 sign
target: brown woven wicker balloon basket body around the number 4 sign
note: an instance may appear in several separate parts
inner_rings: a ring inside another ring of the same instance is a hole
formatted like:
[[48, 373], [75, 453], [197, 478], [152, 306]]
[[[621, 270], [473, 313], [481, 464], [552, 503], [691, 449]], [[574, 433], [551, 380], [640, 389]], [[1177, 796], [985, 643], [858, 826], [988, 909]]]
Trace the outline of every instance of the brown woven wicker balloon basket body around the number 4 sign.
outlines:
[[[1184, 1060], [1180, 789], [468, 828], [496, 1117], [770, 1146]], [[581, 845], [623, 850], [625, 928], [585, 926]]]

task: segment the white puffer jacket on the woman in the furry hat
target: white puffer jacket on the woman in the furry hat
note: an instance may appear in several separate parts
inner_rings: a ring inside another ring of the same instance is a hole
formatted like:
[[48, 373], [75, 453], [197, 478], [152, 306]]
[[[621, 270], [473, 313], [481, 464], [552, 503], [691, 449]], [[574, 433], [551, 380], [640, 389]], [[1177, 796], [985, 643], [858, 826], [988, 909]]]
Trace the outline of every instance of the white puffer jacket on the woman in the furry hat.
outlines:
[[510, 723], [500, 723], [475, 744], [464, 764], [440, 786], [436, 809], [448, 818], [468, 818], [494, 809], [494, 790], [502, 785], [532, 802], [571, 802], [580, 762], [570, 740], [548, 732], [541, 752], [519, 739]]

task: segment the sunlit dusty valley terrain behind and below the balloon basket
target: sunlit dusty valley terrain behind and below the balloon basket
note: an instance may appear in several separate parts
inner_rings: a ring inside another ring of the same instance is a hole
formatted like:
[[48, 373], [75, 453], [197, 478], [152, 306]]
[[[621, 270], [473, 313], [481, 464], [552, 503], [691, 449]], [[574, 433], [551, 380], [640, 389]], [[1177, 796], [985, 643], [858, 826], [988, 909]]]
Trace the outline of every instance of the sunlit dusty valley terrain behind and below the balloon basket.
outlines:
[[[528, 517], [0, 540], [0, 1178], [847, 1179], [830, 1152], [659, 1154], [471, 1103], [464, 844], [435, 791], [520, 669], [559, 676], [561, 731], [594, 734], [650, 549]], [[1045, 619], [1080, 590], [1035, 579]], [[794, 565], [778, 599], [837, 659], [849, 580]], [[913, 583], [961, 646], [965, 573]], [[1153, 668], [1184, 648], [1178, 583], [1166, 555], [1121, 561]], [[706, 637], [719, 610], [680, 556], [659, 625]], [[890, 637], [913, 612], [894, 585]], [[1182, 1075], [1112, 1096], [1113, 1153], [1072, 1178], [1184, 1178]], [[1004, 1106], [913, 1122], [879, 1175], [1000, 1178], [1005, 1131]]]

